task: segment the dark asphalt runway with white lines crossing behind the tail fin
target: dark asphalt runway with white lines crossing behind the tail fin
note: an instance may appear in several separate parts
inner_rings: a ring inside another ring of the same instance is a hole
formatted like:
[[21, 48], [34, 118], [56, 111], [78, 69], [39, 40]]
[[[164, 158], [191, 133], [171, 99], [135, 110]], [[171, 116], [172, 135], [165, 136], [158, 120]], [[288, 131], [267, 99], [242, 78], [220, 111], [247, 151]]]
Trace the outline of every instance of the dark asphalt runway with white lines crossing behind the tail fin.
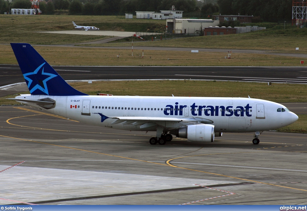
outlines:
[[[307, 67], [53, 66], [65, 80], [203, 79], [307, 83]], [[0, 64], [0, 86], [24, 82], [18, 65]]]

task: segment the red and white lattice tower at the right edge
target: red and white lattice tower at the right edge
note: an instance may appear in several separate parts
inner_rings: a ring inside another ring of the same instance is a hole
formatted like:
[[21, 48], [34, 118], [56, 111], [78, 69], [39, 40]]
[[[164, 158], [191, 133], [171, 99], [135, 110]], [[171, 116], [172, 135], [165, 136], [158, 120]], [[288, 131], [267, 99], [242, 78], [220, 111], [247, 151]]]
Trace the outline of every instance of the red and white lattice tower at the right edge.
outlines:
[[292, 25], [303, 25], [307, 22], [307, 0], [293, 0]]

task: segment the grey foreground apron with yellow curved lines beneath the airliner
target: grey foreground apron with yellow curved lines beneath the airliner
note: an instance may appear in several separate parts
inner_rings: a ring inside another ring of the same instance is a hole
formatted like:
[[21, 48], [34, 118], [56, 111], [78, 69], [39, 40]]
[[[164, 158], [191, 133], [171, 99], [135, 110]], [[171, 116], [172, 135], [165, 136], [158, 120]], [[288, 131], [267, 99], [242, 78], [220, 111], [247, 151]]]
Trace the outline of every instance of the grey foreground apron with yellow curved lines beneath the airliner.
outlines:
[[258, 145], [249, 133], [150, 145], [153, 132], [85, 125], [30, 106], [0, 113], [2, 205], [307, 203], [307, 134], [263, 132]]

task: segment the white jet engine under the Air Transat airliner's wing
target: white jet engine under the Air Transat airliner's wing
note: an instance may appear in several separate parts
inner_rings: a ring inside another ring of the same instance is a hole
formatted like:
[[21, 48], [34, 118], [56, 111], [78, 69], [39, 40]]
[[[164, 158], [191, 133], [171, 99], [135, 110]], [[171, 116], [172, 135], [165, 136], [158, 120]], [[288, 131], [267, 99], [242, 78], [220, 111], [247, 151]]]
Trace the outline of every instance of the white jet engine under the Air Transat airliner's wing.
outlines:
[[215, 134], [214, 125], [188, 125], [169, 133], [195, 142], [213, 142]]

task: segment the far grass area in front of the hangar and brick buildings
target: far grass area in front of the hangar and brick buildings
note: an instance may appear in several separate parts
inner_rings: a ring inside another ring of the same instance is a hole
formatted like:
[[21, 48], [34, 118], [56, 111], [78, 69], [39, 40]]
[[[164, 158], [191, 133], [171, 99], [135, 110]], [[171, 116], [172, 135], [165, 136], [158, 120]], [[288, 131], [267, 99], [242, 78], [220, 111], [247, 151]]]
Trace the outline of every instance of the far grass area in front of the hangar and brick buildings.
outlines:
[[[268, 29], [267, 31], [250, 32], [244, 34], [197, 36], [154, 42], [135, 42], [135, 46], [160, 46], [184, 48], [223, 48], [223, 49], [258, 49], [278, 52], [306, 53], [307, 29], [293, 29], [283, 34], [283, 30]], [[297, 33], [295, 33], [297, 31]], [[303, 33], [300, 33], [303, 32]], [[113, 42], [91, 44], [87, 46], [130, 46], [131, 43]], [[299, 51], [295, 51], [295, 48]]]

